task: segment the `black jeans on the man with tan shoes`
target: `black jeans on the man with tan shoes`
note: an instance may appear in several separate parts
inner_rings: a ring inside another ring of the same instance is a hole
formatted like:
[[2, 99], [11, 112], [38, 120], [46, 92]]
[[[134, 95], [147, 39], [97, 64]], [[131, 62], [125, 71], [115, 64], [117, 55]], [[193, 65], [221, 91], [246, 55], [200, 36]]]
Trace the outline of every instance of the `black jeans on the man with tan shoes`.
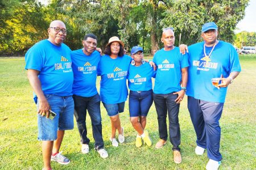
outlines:
[[170, 141], [172, 143], [172, 150], [180, 151], [180, 124], [179, 124], [179, 109], [180, 104], [175, 102], [178, 95], [170, 94], [154, 94], [153, 99], [155, 103], [156, 113], [158, 114], [158, 131], [160, 139], [167, 141], [167, 124], [166, 117], [168, 111], [169, 118], [169, 133]]

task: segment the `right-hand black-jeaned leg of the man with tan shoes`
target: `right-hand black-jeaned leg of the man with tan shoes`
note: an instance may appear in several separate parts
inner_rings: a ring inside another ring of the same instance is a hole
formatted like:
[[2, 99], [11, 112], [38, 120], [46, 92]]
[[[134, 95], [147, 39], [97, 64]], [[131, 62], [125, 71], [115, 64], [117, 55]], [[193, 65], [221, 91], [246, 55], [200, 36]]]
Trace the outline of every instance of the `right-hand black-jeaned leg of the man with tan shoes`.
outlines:
[[169, 118], [169, 133], [172, 143], [172, 150], [180, 151], [180, 124], [179, 124], [179, 109], [180, 104], [175, 102], [177, 95], [172, 93], [167, 95], [167, 108]]

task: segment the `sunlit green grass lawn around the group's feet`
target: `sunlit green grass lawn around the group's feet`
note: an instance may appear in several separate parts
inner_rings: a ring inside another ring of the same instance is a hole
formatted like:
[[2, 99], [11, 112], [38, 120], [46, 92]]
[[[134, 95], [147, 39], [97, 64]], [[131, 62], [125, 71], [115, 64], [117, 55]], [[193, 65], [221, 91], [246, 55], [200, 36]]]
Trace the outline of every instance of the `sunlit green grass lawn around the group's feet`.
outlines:
[[[255, 149], [255, 84], [256, 56], [241, 56], [242, 72], [230, 85], [221, 124], [223, 160], [220, 169], [256, 169]], [[98, 79], [99, 80], [99, 79]], [[97, 84], [98, 84], [97, 80]], [[42, 169], [42, 151], [37, 140], [36, 107], [32, 90], [24, 70], [24, 58], [0, 58], [0, 169]], [[80, 137], [76, 127], [66, 131], [61, 150], [71, 159], [68, 165], [52, 163], [53, 169], [205, 169], [207, 154], [194, 154], [196, 135], [187, 109], [187, 99], [180, 107], [181, 154], [183, 162], [173, 162], [171, 143], [155, 149], [159, 139], [158, 122], [154, 104], [147, 117], [146, 128], [150, 131], [153, 146], [135, 147], [135, 131], [129, 121], [128, 104], [121, 114], [125, 127], [125, 143], [112, 147], [110, 120], [101, 105], [102, 131], [109, 158], [103, 160], [93, 150], [90, 119], [88, 137], [90, 152], [80, 152]]]

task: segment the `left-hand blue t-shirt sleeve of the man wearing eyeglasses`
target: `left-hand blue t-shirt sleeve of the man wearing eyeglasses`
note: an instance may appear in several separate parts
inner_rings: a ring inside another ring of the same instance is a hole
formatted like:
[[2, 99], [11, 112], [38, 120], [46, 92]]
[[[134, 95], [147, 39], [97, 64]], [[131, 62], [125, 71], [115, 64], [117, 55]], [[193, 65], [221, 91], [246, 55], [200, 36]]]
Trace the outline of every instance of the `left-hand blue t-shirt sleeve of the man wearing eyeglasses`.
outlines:
[[41, 71], [44, 66], [44, 55], [40, 46], [35, 44], [25, 54], [25, 69]]

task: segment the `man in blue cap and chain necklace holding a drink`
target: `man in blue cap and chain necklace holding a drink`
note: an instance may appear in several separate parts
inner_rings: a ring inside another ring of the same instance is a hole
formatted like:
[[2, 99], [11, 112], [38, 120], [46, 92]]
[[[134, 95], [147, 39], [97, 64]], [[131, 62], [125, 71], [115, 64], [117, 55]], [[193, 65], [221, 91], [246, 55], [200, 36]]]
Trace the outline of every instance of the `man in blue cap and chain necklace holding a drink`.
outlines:
[[207, 149], [206, 168], [218, 169], [222, 159], [219, 120], [227, 87], [241, 66], [233, 45], [217, 40], [218, 27], [214, 22], [203, 25], [201, 36], [203, 42], [188, 47], [188, 110], [197, 136], [196, 154], [203, 155]]

